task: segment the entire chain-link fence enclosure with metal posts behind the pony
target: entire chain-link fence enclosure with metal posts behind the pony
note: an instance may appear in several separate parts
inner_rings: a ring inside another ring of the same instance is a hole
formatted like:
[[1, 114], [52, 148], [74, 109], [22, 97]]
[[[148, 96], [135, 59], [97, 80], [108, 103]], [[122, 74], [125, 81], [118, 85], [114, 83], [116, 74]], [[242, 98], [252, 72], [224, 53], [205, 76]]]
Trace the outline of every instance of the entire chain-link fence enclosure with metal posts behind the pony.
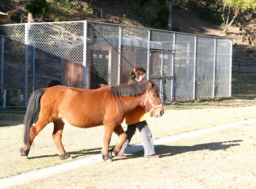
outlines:
[[76, 21], [2, 25], [0, 44], [7, 107], [26, 107], [42, 87], [127, 83], [134, 66], [163, 102], [231, 96], [232, 39]]

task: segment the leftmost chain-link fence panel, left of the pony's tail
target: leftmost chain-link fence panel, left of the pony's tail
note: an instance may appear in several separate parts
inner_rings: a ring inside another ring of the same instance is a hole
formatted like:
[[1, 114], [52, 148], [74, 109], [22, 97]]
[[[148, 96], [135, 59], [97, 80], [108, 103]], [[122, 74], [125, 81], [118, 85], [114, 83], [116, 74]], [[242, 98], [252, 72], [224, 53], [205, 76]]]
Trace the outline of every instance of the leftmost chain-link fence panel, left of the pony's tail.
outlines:
[[1, 89], [6, 89], [6, 99], [0, 98], [0, 105], [4, 100], [7, 107], [24, 106], [24, 25], [0, 27], [0, 44], [0, 84]]

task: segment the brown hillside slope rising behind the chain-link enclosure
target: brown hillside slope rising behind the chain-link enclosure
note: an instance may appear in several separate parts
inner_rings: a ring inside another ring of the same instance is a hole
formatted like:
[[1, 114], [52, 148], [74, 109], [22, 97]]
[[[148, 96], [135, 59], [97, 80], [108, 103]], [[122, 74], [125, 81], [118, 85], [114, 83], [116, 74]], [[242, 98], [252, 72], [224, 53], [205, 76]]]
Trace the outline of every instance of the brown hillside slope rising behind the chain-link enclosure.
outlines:
[[[75, 14], [76, 16], [70, 20], [86, 19], [98, 22], [157, 28], [157, 23], [153, 26], [152, 23], [150, 23], [150, 20], [155, 16], [153, 14], [155, 14], [155, 10], [157, 9], [155, 0], [149, 0], [148, 3], [143, 6], [138, 6], [136, 0], [74, 0], [74, 2], [89, 4], [94, 13], [86, 18], [81, 18], [79, 17], [79, 14]], [[1, 1], [1, 4], [26, 14], [24, 11], [25, 3], [26, 0]], [[76, 10], [71, 9], [69, 11], [76, 13]], [[23, 20], [23, 22], [26, 22], [26, 20]], [[179, 29], [179, 32], [183, 33], [231, 38], [233, 39], [233, 62], [256, 61], [256, 52], [253, 50], [255, 47], [242, 42], [242, 36], [237, 35], [240, 31], [236, 26], [231, 26], [228, 31], [229, 34], [226, 35], [223, 33], [220, 24], [214, 24], [213, 22], [200, 19], [189, 7], [174, 7], [173, 24]]]

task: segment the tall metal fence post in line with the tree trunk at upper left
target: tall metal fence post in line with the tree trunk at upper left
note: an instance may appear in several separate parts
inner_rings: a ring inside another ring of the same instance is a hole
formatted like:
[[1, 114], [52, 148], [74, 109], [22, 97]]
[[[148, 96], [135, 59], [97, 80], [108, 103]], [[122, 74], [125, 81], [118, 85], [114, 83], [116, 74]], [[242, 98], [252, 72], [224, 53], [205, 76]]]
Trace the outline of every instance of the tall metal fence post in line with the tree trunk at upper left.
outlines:
[[28, 105], [28, 23], [25, 23], [25, 108]]

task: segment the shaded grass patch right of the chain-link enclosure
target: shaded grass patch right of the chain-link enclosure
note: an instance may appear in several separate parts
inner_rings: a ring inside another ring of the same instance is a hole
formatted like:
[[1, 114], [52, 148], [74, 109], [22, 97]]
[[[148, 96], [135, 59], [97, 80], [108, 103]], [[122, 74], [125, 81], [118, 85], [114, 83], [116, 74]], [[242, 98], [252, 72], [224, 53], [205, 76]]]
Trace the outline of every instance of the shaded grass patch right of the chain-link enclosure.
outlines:
[[232, 96], [237, 99], [254, 100], [256, 98], [256, 74], [232, 74]]

